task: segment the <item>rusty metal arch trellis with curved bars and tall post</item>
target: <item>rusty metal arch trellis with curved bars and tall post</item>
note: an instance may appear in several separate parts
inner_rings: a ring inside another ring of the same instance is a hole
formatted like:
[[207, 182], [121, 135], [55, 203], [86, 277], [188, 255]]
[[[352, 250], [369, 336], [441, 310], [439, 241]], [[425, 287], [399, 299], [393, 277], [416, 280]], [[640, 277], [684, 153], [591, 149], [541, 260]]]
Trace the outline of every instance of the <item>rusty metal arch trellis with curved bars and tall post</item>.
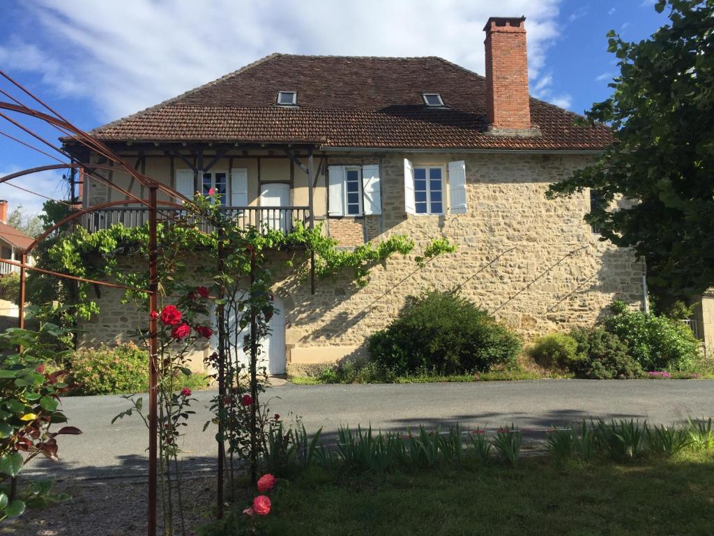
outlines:
[[[24, 250], [24, 252], [21, 253], [21, 262], [13, 262], [9, 261], [9, 264], [13, 264], [15, 266], [18, 266], [20, 269], [20, 297], [19, 297], [19, 327], [24, 327], [24, 304], [26, 302], [26, 294], [25, 294], [25, 284], [26, 284], [26, 270], [36, 270], [39, 272], [43, 272], [45, 274], [49, 274], [55, 277], [63, 277], [63, 278], [69, 278], [69, 279], [74, 279], [79, 282], [89, 282], [92, 284], [99, 284], [99, 285], [104, 285], [108, 287], [118, 287], [118, 288], [124, 288], [124, 289], [133, 289], [133, 290], [138, 290], [140, 292], [146, 292], [149, 296], [149, 310], [150, 311], [155, 311], [158, 308], [158, 285], [159, 285], [159, 279], [158, 279], [158, 269], [157, 269], [157, 261], [158, 261], [158, 244], [157, 244], [157, 214], [159, 214], [159, 206], [165, 206], [165, 207], [184, 207], [183, 204], [178, 204], [174, 202], [163, 202], [159, 201], [157, 199], [157, 192], [161, 191], [164, 192], [165, 194], [168, 194], [169, 197], [174, 198], [174, 199], [179, 199], [183, 201], [183, 203], [188, 203], [193, 204], [193, 201], [191, 199], [188, 199], [183, 196], [183, 194], [176, 192], [176, 190], [172, 189], [171, 187], [166, 186], [165, 184], [161, 184], [159, 182], [156, 182], [154, 179], [151, 179], [150, 177], [147, 177], [145, 174], [142, 174], [139, 172], [138, 169], [134, 169], [134, 167], [131, 167], [124, 159], [119, 157], [118, 154], [113, 152], [109, 147], [106, 146], [103, 142], [101, 142], [99, 139], [96, 137], [93, 137], [91, 134], [87, 133], [86, 131], [83, 131], [79, 129], [78, 127], [74, 126], [74, 124], [71, 124], [70, 121], [65, 119], [63, 116], [58, 114], [54, 109], [51, 109], [47, 104], [45, 104], [39, 97], [35, 96], [34, 94], [31, 93], [28, 89], [24, 88], [24, 86], [21, 86], [18, 82], [16, 82], [14, 79], [12, 79], [9, 75], [4, 73], [3, 71], [0, 70], [0, 76], [2, 76], [4, 79], [9, 81], [12, 86], [14, 86], [16, 89], [19, 89], [22, 91], [24, 94], [29, 96], [31, 99], [39, 103], [41, 106], [44, 107], [44, 109], [48, 110], [50, 114], [46, 114], [43, 111], [39, 111], [37, 109], [30, 108], [29, 106], [26, 106], [19, 101], [19, 99], [14, 98], [11, 96], [9, 93], [6, 91], [0, 91], [1, 94], [9, 97], [11, 101], [13, 102], [7, 102], [7, 101], [0, 101], [0, 109], [4, 109], [6, 111], [11, 111], [17, 114], [22, 114], [24, 116], [30, 116], [33, 117], [34, 119], [39, 119], [42, 121], [44, 124], [47, 124], [49, 126], [54, 127], [55, 129], [61, 131], [65, 135], [69, 135], [74, 141], [79, 142], [80, 144], [84, 145], [86, 148], [91, 149], [92, 151], [96, 152], [97, 154], [101, 155], [101, 157], [104, 157], [107, 159], [107, 161], [116, 164], [116, 167], [114, 166], [109, 166], [106, 164], [95, 164], [91, 162], [80, 162], [76, 157], [72, 157], [71, 155], [67, 154], [64, 152], [62, 149], [59, 147], [55, 147], [53, 144], [49, 143], [41, 137], [39, 134], [34, 131], [34, 129], [31, 129], [29, 126], [24, 126], [19, 121], [14, 121], [13, 119], [10, 119], [6, 114], [0, 114], [0, 117], [5, 119], [6, 121], [9, 121], [9, 123], [13, 124], [14, 126], [20, 128], [21, 130], [25, 131], [26, 134], [30, 134], [32, 137], [39, 139], [39, 141], [43, 142], [47, 146], [51, 147], [52, 149], [56, 150], [59, 152], [62, 156], [64, 157], [69, 157], [70, 162], [62, 162], [60, 159], [54, 158], [61, 162], [60, 164], [49, 164], [49, 165], [44, 165], [44, 166], [39, 166], [39, 167], [32, 167], [29, 169], [25, 169], [19, 172], [14, 172], [11, 174], [6, 175], [5, 177], [0, 178], [0, 184], [3, 182], [7, 182], [11, 179], [15, 179], [17, 177], [24, 177], [27, 175], [35, 174], [38, 172], [43, 172], [43, 171], [48, 171], [52, 169], [83, 169], [87, 174], [90, 176], [92, 175], [92, 171], [94, 169], [106, 169], [110, 170], [113, 172], [122, 172], [129, 174], [132, 179], [136, 182], [139, 182], [143, 187], [147, 187], [149, 189], [149, 199], [139, 199], [139, 197], [134, 196], [134, 194], [131, 194], [131, 192], [126, 192], [126, 190], [123, 190], [119, 187], [117, 187], [115, 184], [111, 184], [111, 181], [109, 179], [104, 179], [103, 177], [95, 177], [98, 179], [100, 182], [104, 182], [105, 184], [109, 184], [109, 186], [114, 187], [115, 189], [119, 189], [120, 191], [124, 192], [127, 195], [127, 199], [121, 200], [121, 201], [116, 201], [116, 202], [108, 202], [104, 204], [96, 204], [91, 207], [86, 207], [84, 209], [80, 209], [73, 214], [70, 214], [68, 217], [64, 218], [61, 220], [61, 222], [58, 222], [54, 226], [50, 227], [47, 229], [44, 233], [39, 235], [32, 244]], [[13, 138], [14, 139], [14, 138]], [[16, 140], [19, 141], [19, 140]], [[36, 151], [40, 152], [41, 154], [48, 155], [46, 152], [41, 151], [40, 149], [36, 149], [29, 144], [25, 144], [24, 142], [20, 142], [27, 147], [31, 147], [35, 149]], [[142, 188], [143, 189], [143, 188]], [[129, 199], [131, 198], [131, 201]], [[76, 219], [79, 219], [80, 217], [83, 217], [86, 214], [90, 214], [92, 212], [96, 212], [97, 210], [104, 209], [106, 207], [111, 207], [117, 204], [126, 204], [126, 202], [137, 202], [144, 204], [148, 209], [149, 209], [149, 288], [148, 289], [137, 289], [134, 287], [126, 287], [124, 285], [119, 285], [119, 284], [114, 284], [114, 283], [109, 283], [109, 282], [101, 282], [101, 281], [96, 281], [93, 279], [86, 279], [83, 277], [74, 277], [69, 274], [62, 274], [60, 272], [53, 272], [51, 270], [45, 270], [45, 269], [39, 269], [37, 267], [33, 267], [27, 263], [28, 256], [30, 252], [39, 244], [41, 243], [46, 237], [49, 236], [52, 232], [56, 231], [59, 229], [62, 225], [67, 224], [69, 222], [73, 222]], [[158, 367], [157, 367], [157, 331], [158, 331], [158, 321], [156, 318], [153, 317], [154, 315], [149, 316], [149, 497], [148, 497], [148, 527], [147, 527], [147, 532], [149, 536], [155, 536], [156, 535], [156, 490], [157, 490], [157, 437], [158, 437], [158, 420], [157, 420], [157, 405], [158, 405]], [[219, 343], [219, 346], [221, 343]]]

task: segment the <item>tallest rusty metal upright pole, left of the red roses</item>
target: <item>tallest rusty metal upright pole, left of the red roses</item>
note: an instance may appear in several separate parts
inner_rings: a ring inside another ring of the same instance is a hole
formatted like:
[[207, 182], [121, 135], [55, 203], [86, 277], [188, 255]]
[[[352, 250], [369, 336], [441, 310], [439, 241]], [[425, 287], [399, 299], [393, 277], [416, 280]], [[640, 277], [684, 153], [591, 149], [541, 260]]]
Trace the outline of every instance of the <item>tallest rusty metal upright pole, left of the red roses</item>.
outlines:
[[[159, 277], [157, 262], [159, 250], [156, 245], [156, 186], [149, 187], [149, 312], [159, 309]], [[156, 413], [159, 405], [159, 373], [156, 352], [158, 352], [158, 322], [149, 315], [149, 512], [147, 533], [156, 536], [156, 461], [159, 423]]]

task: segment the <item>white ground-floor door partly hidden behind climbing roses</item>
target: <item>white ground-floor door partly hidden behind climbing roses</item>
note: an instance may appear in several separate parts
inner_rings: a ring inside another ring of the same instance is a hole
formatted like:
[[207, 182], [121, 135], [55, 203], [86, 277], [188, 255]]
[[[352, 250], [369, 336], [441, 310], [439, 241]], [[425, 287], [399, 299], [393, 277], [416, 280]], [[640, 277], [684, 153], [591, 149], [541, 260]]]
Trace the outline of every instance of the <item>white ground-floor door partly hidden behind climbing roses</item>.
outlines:
[[[276, 297], [275, 299], [276, 312], [273, 314], [269, 322], [271, 329], [268, 337], [261, 341], [261, 353], [258, 354], [258, 369], [266, 367], [268, 374], [285, 374], [285, 317], [283, 315], [283, 304]], [[248, 367], [251, 363], [251, 352], [243, 351], [243, 339], [251, 332], [251, 327], [248, 325], [241, 330], [241, 327], [236, 322], [235, 312], [228, 311], [228, 322], [231, 329], [228, 330], [228, 341], [231, 347], [238, 347], [238, 362], [245, 364]], [[215, 309], [211, 310], [211, 324], [216, 325]], [[211, 337], [211, 349], [218, 348], [218, 328], [213, 332]]]

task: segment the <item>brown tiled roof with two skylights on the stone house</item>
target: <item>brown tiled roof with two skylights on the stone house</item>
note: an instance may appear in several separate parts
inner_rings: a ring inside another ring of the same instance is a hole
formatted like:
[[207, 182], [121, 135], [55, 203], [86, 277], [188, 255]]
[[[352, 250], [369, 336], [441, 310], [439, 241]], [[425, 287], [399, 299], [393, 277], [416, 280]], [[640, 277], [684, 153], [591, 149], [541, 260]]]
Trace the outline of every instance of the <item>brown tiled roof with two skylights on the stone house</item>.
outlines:
[[[297, 91], [298, 107], [276, 106]], [[441, 94], [428, 109], [422, 93]], [[486, 81], [436, 57], [273, 54], [205, 86], [95, 129], [107, 141], [311, 142], [332, 147], [602, 149], [602, 125], [531, 99], [539, 137], [486, 134]]]

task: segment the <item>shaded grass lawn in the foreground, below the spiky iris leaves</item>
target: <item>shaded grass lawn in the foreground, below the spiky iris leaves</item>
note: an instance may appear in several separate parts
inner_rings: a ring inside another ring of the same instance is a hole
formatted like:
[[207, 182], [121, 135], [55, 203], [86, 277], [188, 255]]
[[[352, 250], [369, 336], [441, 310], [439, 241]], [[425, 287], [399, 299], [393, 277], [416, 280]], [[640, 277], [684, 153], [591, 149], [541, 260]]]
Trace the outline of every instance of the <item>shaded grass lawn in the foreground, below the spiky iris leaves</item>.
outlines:
[[714, 456], [562, 467], [538, 457], [384, 477], [314, 469], [271, 498], [260, 525], [273, 535], [711, 535]]

